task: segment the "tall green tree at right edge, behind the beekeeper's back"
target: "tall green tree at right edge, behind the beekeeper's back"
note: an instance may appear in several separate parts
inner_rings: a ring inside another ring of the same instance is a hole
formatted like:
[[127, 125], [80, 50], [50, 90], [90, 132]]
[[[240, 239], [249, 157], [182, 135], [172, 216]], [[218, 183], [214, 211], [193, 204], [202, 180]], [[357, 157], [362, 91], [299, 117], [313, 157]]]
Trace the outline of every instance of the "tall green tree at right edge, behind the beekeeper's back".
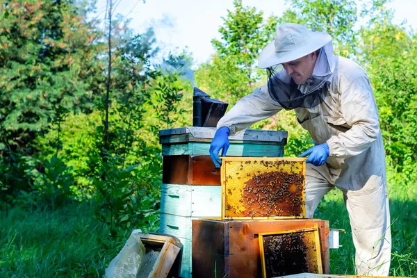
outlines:
[[393, 24], [386, 1], [375, 1], [361, 28], [361, 55], [379, 108], [389, 170], [395, 183], [416, 179], [417, 161], [417, 47], [416, 33]]

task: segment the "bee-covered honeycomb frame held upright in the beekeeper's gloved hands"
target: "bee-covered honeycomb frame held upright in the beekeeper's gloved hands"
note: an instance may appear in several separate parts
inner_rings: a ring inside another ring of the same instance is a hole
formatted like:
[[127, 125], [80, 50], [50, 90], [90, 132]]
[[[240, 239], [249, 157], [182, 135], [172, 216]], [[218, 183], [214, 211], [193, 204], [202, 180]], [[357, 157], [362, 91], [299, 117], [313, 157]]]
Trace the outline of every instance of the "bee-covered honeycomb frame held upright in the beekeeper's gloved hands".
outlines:
[[222, 158], [222, 219], [305, 218], [305, 158]]

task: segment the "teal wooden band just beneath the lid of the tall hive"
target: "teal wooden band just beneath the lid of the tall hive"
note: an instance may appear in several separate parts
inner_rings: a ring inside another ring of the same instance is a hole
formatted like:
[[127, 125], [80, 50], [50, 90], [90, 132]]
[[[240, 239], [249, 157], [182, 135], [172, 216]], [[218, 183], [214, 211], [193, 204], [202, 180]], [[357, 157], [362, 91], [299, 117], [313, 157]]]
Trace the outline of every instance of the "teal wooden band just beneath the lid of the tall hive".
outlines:
[[[163, 145], [163, 156], [190, 155], [208, 156], [210, 149], [209, 142], [189, 142], [188, 144]], [[281, 145], [243, 145], [230, 144], [227, 156], [253, 156], [253, 157], [282, 157], [284, 156], [284, 146]]]

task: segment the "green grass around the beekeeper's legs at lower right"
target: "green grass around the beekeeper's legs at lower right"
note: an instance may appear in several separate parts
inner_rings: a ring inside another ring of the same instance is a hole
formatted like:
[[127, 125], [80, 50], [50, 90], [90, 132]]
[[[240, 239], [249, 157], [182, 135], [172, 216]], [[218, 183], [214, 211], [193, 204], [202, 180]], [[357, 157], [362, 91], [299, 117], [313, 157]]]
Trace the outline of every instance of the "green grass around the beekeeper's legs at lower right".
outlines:
[[[417, 185], [389, 187], [392, 256], [390, 275], [417, 277]], [[329, 220], [330, 227], [345, 229], [343, 247], [330, 250], [330, 272], [354, 275], [354, 246], [349, 217], [341, 190], [334, 189], [320, 202], [315, 218]]]

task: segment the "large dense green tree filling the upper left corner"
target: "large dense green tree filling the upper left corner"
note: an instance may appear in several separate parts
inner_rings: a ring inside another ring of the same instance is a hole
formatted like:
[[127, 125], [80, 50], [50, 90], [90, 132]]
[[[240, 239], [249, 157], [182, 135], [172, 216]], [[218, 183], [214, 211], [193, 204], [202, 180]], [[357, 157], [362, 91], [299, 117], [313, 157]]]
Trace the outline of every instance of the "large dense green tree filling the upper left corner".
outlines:
[[[0, 152], [26, 149], [56, 108], [89, 111], [99, 32], [72, 1], [0, 1]], [[93, 81], [95, 80], [95, 81]]]

